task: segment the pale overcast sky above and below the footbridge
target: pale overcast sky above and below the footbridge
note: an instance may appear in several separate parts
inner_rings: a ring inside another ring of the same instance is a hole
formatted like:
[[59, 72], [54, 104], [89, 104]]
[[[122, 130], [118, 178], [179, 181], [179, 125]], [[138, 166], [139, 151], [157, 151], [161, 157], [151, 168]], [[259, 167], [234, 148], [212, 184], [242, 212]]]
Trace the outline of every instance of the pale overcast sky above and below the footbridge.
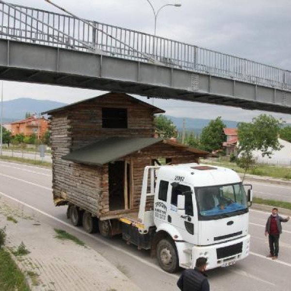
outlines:
[[[9, 0], [15, 4], [58, 11], [45, 0]], [[53, 0], [81, 18], [153, 33], [154, 16], [147, 0]], [[291, 0], [151, 0], [158, 10], [157, 35], [207, 49], [291, 70]], [[59, 86], [4, 81], [4, 100], [19, 97], [66, 103], [104, 92]], [[147, 101], [145, 97], [142, 100]], [[149, 100], [149, 102], [151, 102]], [[250, 121], [259, 111], [154, 100], [154, 105], [176, 117]], [[291, 122], [289, 114], [273, 114]], [[5, 112], [4, 112], [5, 117]]]

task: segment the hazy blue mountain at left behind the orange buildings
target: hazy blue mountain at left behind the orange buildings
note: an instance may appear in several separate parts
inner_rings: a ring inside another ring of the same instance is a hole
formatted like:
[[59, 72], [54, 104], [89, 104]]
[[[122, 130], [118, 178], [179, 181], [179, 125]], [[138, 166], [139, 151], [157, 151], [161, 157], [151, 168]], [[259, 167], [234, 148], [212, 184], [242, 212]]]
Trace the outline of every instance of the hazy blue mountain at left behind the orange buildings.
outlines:
[[62, 102], [32, 98], [17, 98], [3, 101], [3, 123], [24, 119], [27, 112], [38, 114], [65, 105], [67, 104]]

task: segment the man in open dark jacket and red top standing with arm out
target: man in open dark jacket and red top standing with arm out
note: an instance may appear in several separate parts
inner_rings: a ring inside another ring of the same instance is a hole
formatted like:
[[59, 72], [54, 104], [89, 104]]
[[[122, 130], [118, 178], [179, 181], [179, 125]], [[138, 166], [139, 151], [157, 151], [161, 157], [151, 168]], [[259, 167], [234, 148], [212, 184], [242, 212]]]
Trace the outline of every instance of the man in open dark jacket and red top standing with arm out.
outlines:
[[283, 218], [278, 215], [278, 209], [273, 208], [272, 214], [268, 217], [265, 229], [265, 236], [269, 235], [270, 254], [268, 258], [278, 259], [279, 237], [282, 233], [281, 222], [289, 221], [290, 216]]

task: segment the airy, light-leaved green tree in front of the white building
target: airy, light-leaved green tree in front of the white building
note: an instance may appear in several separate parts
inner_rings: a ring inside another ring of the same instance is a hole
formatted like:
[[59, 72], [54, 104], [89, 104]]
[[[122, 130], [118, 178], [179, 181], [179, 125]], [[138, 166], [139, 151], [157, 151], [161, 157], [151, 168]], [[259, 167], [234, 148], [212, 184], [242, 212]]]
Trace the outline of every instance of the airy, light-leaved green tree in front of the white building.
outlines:
[[238, 124], [238, 154], [237, 164], [246, 171], [254, 164], [253, 151], [259, 150], [262, 156], [272, 156], [274, 150], [280, 150], [282, 146], [278, 141], [283, 121], [275, 119], [272, 115], [260, 114], [253, 118], [252, 122], [240, 122]]

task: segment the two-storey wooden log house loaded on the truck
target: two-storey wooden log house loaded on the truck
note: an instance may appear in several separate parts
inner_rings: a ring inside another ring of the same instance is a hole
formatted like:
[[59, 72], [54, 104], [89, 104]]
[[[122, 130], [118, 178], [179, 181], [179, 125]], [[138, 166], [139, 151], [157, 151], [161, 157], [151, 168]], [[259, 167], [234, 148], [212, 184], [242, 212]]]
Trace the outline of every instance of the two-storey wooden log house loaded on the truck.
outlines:
[[198, 162], [208, 154], [154, 138], [154, 114], [164, 111], [126, 94], [108, 93], [46, 113], [55, 204], [78, 205], [102, 220], [139, 209], [146, 165], [162, 158]]

